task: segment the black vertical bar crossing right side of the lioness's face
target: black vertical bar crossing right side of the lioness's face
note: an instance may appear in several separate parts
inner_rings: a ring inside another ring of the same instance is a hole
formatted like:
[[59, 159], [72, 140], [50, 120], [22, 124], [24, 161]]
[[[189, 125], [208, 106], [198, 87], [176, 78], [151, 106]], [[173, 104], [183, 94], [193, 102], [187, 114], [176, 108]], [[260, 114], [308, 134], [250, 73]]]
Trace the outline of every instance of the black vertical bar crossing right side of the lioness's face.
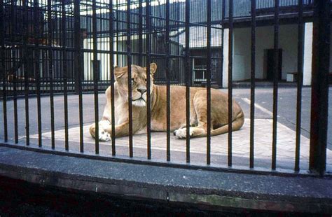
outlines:
[[150, 0], [146, 1], [146, 113], [147, 113], [147, 157], [151, 159], [151, 96], [150, 96], [150, 62], [151, 62], [151, 6]]

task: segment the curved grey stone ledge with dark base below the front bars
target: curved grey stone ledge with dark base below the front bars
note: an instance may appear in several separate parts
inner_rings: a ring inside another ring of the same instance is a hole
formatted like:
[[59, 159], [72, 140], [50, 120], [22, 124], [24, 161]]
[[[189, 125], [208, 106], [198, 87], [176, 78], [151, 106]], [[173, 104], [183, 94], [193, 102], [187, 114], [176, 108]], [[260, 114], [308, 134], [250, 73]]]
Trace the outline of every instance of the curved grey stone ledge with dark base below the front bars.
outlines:
[[36, 151], [0, 144], [0, 216], [332, 214], [331, 176], [159, 167]]

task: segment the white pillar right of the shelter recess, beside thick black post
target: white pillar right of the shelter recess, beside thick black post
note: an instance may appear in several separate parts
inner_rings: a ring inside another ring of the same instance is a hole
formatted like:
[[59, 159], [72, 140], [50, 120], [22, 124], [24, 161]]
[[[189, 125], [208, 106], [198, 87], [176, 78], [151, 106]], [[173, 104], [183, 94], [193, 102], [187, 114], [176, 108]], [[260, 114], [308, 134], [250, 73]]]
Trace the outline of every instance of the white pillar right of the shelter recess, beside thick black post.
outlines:
[[[303, 85], [311, 85], [312, 78], [312, 22], [305, 23]], [[331, 60], [330, 60], [331, 61]]]

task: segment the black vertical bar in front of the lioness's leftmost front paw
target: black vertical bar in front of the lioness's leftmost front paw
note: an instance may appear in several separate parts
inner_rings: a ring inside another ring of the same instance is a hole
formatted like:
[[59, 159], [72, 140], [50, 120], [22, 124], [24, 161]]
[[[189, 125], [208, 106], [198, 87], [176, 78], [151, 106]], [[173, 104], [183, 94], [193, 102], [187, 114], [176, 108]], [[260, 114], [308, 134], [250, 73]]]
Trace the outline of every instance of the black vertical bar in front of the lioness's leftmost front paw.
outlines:
[[92, 0], [92, 40], [93, 40], [93, 91], [95, 92], [95, 153], [99, 154], [99, 117], [98, 117], [98, 78], [97, 55], [97, 11], [96, 0]]

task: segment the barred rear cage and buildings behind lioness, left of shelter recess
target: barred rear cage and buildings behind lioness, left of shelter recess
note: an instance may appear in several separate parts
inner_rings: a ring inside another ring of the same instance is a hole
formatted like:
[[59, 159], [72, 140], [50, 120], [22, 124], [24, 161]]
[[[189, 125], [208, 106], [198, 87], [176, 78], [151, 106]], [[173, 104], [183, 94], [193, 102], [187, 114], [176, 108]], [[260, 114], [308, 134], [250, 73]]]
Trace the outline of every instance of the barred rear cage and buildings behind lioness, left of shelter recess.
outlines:
[[[49, 7], [49, 3], [51, 6]], [[53, 80], [54, 90], [62, 92], [64, 70], [63, 70], [63, 59], [62, 47], [65, 45], [67, 50], [67, 82], [69, 91], [75, 90], [75, 77], [74, 71], [74, 36], [76, 35], [74, 27], [74, 1], [64, 2], [64, 11], [62, 10], [61, 1], [27, 1], [27, 5], [24, 5], [24, 1], [4, 1], [4, 29], [5, 29], [5, 62], [6, 62], [6, 75], [8, 78], [8, 85], [13, 88], [13, 79], [17, 85], [18, 90], [24, 90], [24, 67], [22, 59], [22, 48], [19, 45], [27, 40], [28, 56], [27, 68], [30, 87], [36, 89], [36, 69], [34, 62], [39, 62], [40, 69], [40, 81], [41, 91], [49, 92], [50, 80]], [[130, 13], [130, 29], [132, 35], [132, 55], [133, 64], [145, 65], [146, 59], [144, 53], [146, 53], [146, 9], [141, 10], [141, 16], [139, 15], [138, 1], [132, 1]], [[143, 3], [145, 4], [145, 3]], [[191, 42], [191, 48], [196, 48], [199, 51], [196, 52], [196, 58], [204, 59], [206, 54], [202, 51], [202, 48], [206, 47], [206, 27], [202, 23], [206, 22], [206, 16], [200, 15], [199, 17], [194, 14], [200, 14], [201, 6], [204, 6], [203, 1], [198, 1], [197, 6], [193, 6], [195, 10], [191, 20], [191, 30], [197, 36], [196, 40]], [[109, 43], [110, 43], [110, 13], [109, 13], [109, 1], [97, 1], [97, 66], [99, 67], [99, 85], [100, 90], [104, 90], [106, 85], [109, 84], [110, 80], [110, 62], [109, 62]], [[215, 1], [214, 5], [216, 8], [221, 7], [219, 1]], [[26, 8], [25, 8], [26, 7]], [[36, 8], [37, 7], [37, 8]], [[26, 13], [26, 14], [25, 14]], [[221, 14], [216, 14], [214, 18], [214, 44], [215, 48], [221, 48]], [[117, 66], [125, 66], [127, 59], [125, 57], [127, 45], [126, 45], [126, 34], [127, 34], [127, 18], [126, 18], [126, 4], [122, 1], [114, 1], [113, 3], [113, 36], [114, 36], [114, 63]], [[217, 17], [219, 16], [219, 18]], [[27, 20], [24, 20], [26, 18]], [[37, 19], [37, 20], [36, 20]], [[184, 56], [184, 1], [174, 1], [170, 4], [170, 55], [172, 59], [170, 61], [171, 68], [171, 80], [172, 83], [184, 84], [184, 63], [181, 57]], [[195, 20], [196, 19], [196, 20]], [[80, 2], [80, 30], [81, 30], [81, 80], [83, 83], [83, 91], [93, 90], [93, 57], [92, 57], [92, 2], [82, 1]], [[27, 27], [24, 27], [25, 24]], [[25, 28], [27, 31], [25, 31]], [[65, 31], [66, 38], [64, 40], [62, 31]], [[151, 1], [151, 55], [153, 56], [152, 61], [157, 62], [160, 65], [160, 70], [156, 75], [156, 80], [160, 83], [165, 83], [165, 71], [164, 61], [165, 56], [165, 2], [162, 1]], [[139, 40], [141, 38], [141, 41]], [[39, 47], [39, 60], [36, 59], [34, 50], [36, 43]], [[141, 44], [139, 44], [141, 43]], [[141, 46], [141, 48], [139, 48]], [[52, 50], [53, 58], [50, 59], [48, 52]], [[141, 49], [141, 50], [139, 50]], [[193, 58], [193, 57], [192, 57]], [[221, 85], [220, 71], [221, 69], [221, 55], [216, 54], [214, 57], [215, 62], [215, 73], [216, 77], [214, 80]], [[14, 63], [13, 63], [14, 62]], [[202, 62], [202, 61], [201, 61]], [[52, 66], [50, 66], [52, 64]], [[204, 65], [203, 65], [204, 66]], [[52, 67], [52, 72], [50, 72]], [[198, 65], [202, 67], [202, 65]], [[203, 69], [206, 70], [206, 69]], [[77, 73], [76, 73], [77, 74]], [[76, 75], [77, 76], [77, 75]], [[196, 78], [197, 77], [197, 78]], [[202, 73], [198, 73], [195, 76], [195, 81], [206, 80], [203, 78]], [[8, 89], [9, 90], [9, 89]]]

